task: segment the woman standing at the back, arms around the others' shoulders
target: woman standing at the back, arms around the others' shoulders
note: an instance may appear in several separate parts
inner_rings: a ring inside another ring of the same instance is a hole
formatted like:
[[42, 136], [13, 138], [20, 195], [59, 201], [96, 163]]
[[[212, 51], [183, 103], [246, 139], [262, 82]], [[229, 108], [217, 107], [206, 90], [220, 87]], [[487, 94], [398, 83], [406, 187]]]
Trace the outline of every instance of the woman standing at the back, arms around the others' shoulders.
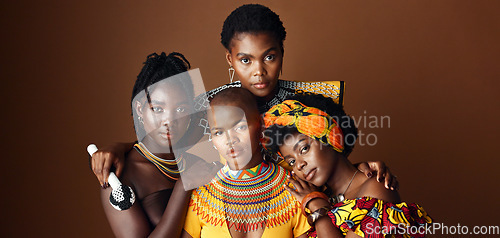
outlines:
[[[235, 9], [224, 21], [221, 43], [226, 49], [231, 83], [207, 92], [211, 98], [228, 87], [243, 87], [256, 96], [260, 113], [282, 102], [287, 96], [301, 91], [315, 91], [331, 97], [340, 104], [343, 101], [343, 82], [293, 82], [279, 80], [284, 56], [285, 27], [278, 14], [266, 6], [246, 4]], [[239, 81], [232, 82], [234, 75]], [[317, 91], [317, 88], [326, 90]], [[208, 106], [208, 102], [202, 105]], [[206, 128], [208, 129], [208, 128]], [[124, 154], [133, 143], [116, 143], [101, 148], [92, 156], [92, 170], [101, 186], [107, 186], [109, 171], [114, 165], [120, 176]], [[280, 162], [279, 160], [275, 162]], [[280, 163], [288, 167], [286, 163]], [[383, 162], [359, 164], [366, 176], [377, 175], [386, 188], [396, 189], [397, 180]]]

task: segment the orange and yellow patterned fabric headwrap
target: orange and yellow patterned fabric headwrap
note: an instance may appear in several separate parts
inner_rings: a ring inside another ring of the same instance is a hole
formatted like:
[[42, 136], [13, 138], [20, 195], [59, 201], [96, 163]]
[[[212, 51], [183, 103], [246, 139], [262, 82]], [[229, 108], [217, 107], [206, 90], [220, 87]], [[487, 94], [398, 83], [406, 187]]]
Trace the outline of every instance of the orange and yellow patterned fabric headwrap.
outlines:
[[299, 133], [331, 145], [339, 153], [344, 151], [344, 136], [337, 121], [326, 112], [296, 100], [286, 100], [269, 109], [264, 114], [264, 125], [266, 129], [273, 125], [292, 126]]

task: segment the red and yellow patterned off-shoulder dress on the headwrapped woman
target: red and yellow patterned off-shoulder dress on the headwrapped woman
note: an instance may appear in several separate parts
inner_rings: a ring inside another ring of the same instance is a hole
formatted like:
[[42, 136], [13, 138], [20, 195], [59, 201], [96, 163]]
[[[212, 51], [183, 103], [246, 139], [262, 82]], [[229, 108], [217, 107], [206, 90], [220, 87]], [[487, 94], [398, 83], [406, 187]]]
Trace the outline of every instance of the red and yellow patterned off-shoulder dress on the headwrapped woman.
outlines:
[[[362, 197], [346, 199], [328, 212], [332, 223], [343, 235], [354, 231], [361, 237], [424, 237], [432, 219], [414, 203], [390, 203]], [[311, 228], [308, 237], [317, 237]]]

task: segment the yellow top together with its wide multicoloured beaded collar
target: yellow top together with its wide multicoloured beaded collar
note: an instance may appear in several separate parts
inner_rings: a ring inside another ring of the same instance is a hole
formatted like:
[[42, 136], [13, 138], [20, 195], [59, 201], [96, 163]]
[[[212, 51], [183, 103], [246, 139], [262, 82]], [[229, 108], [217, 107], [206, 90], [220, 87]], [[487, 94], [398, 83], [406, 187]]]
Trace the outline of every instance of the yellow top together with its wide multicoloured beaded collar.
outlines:
[[226, 165], [207, 185], [191, 195], [184, 230], [192, 237], [231, 237], [230, 228], [262, 237], [297, 237], [310, 226], [299, 202], [284, 189], [288, 172], [262, 162], [231, 171]]

